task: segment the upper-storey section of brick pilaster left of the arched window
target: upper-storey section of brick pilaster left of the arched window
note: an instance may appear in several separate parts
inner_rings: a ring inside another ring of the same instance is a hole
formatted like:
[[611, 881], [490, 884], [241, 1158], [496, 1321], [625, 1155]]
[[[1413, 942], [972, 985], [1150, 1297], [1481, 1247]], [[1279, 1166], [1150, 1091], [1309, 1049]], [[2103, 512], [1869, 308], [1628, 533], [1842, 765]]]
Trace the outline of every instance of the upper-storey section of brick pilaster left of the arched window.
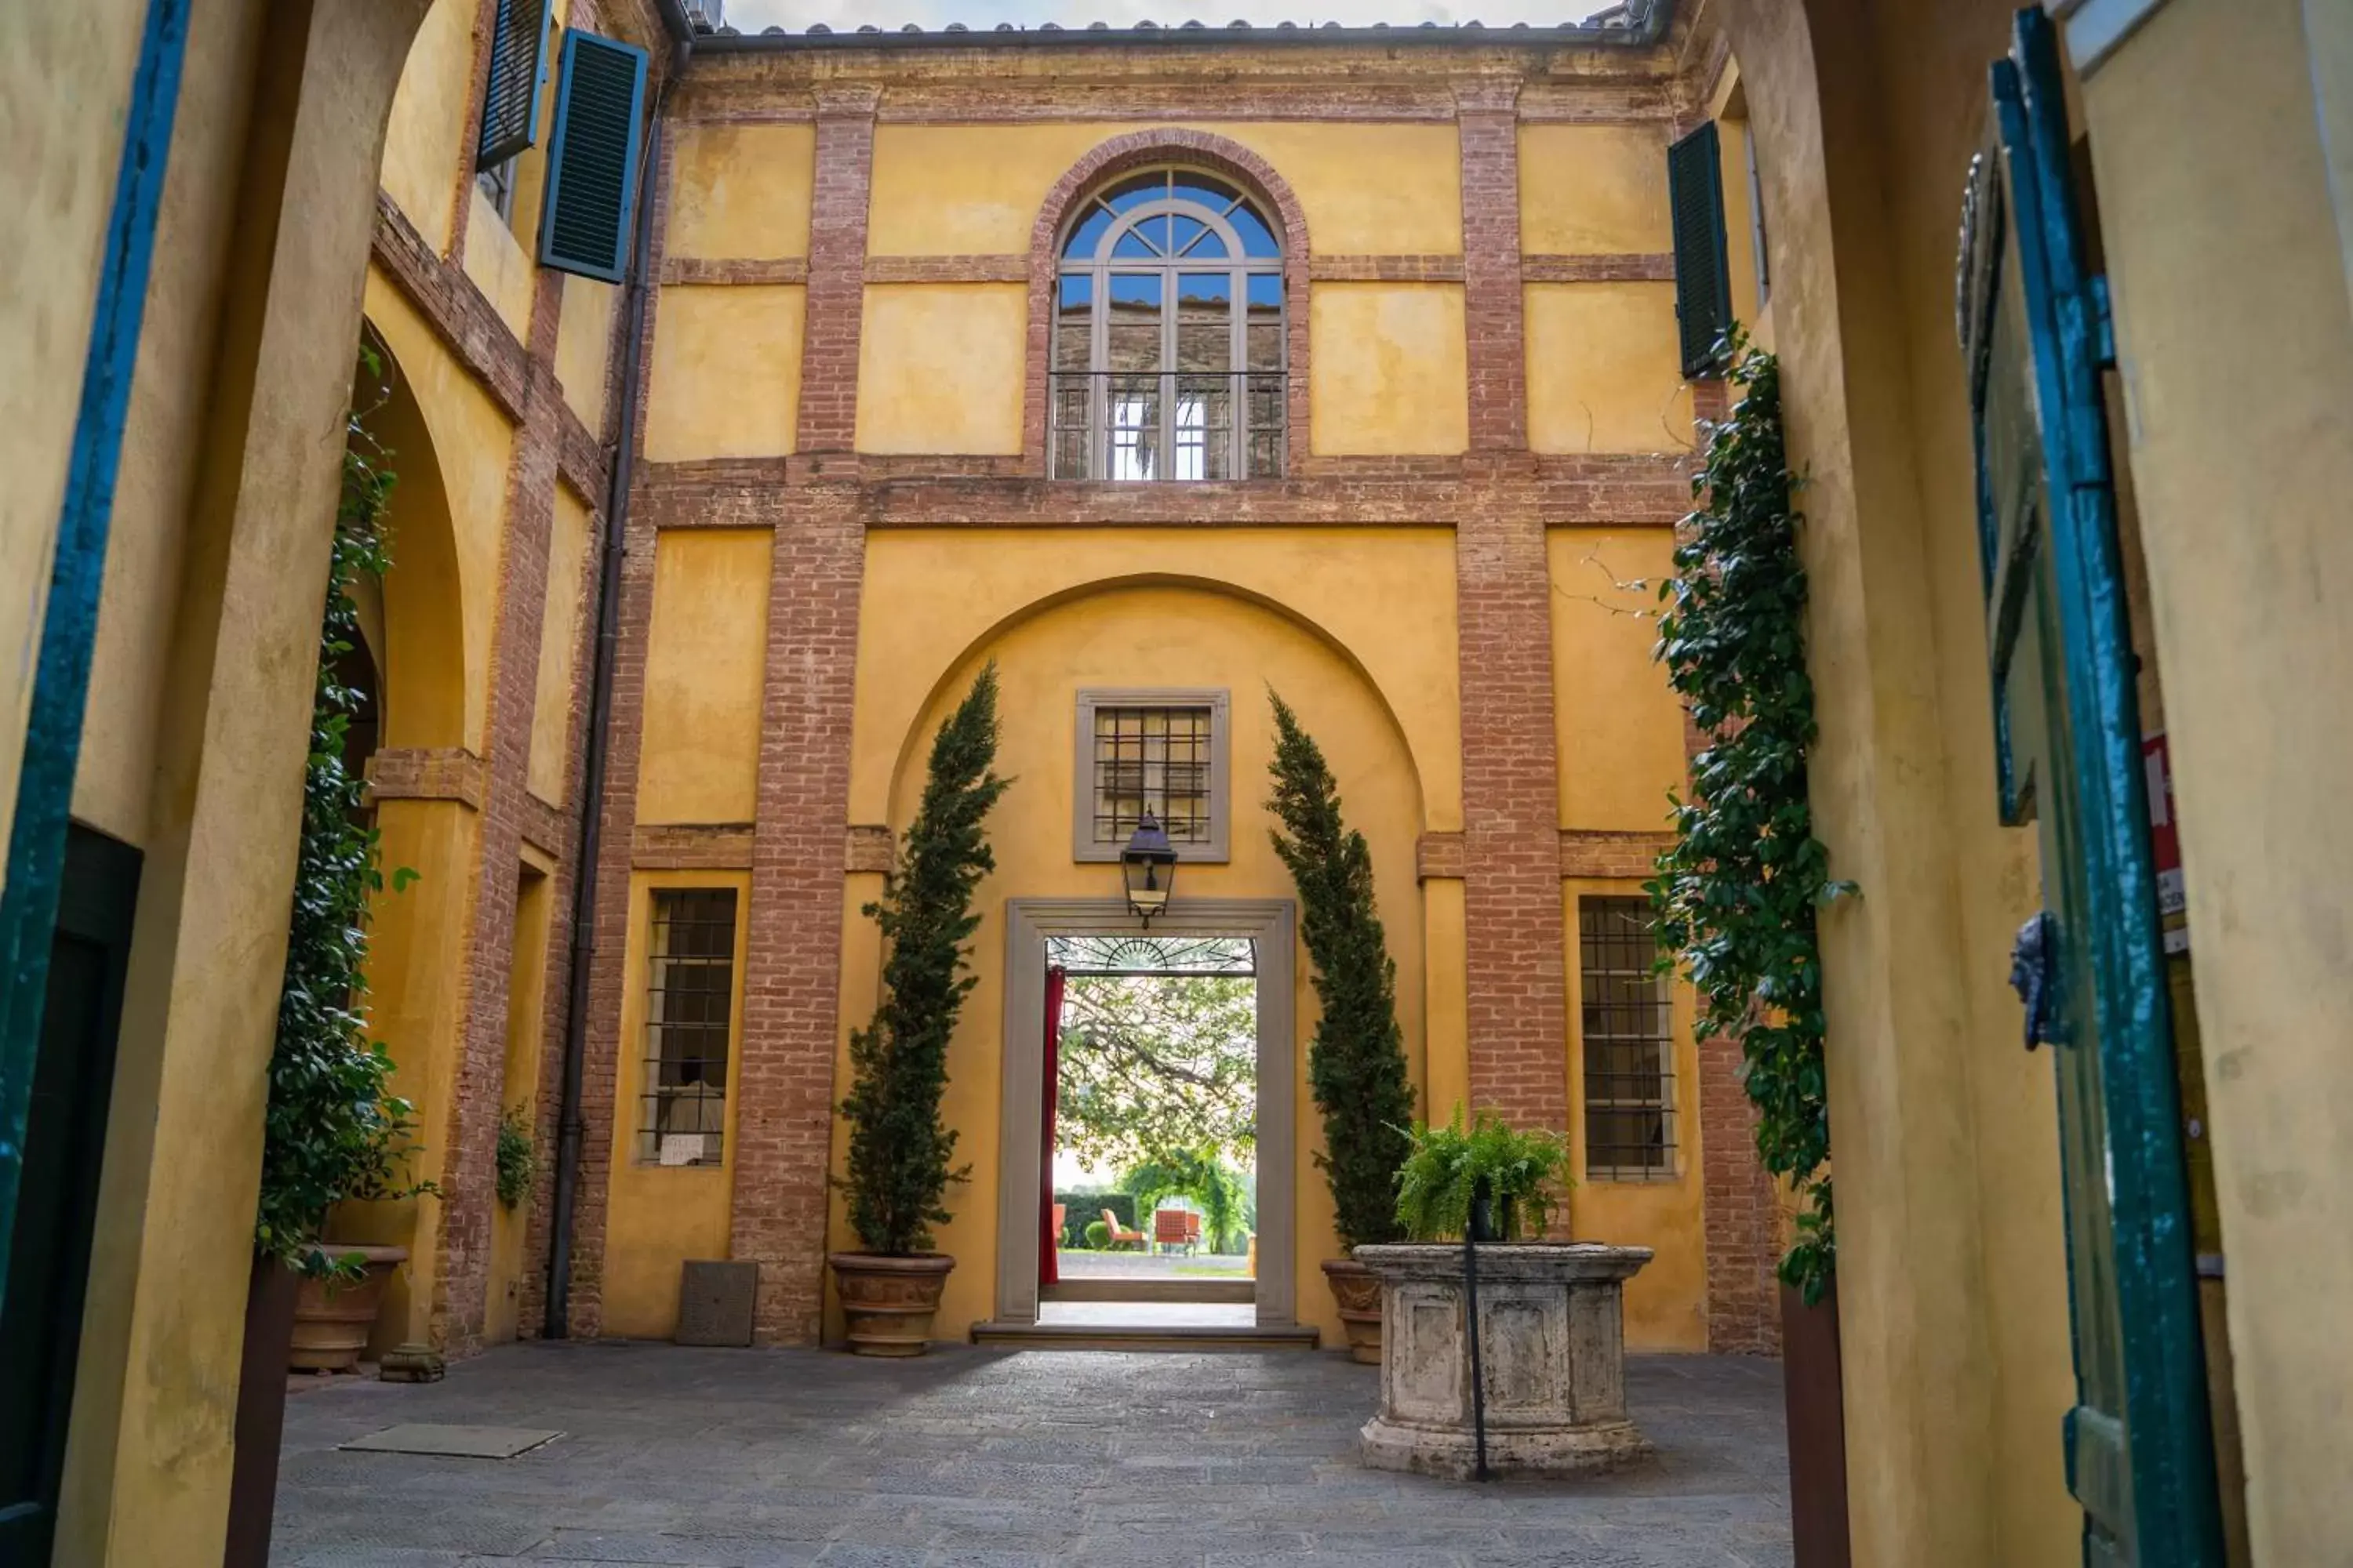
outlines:
[[809, 197], [809, 299], [800, 341], [802, 454], [854, 451], [859, 336], [866, 320], [866, 193], [878, 87], [816, 89], [816, 188]]

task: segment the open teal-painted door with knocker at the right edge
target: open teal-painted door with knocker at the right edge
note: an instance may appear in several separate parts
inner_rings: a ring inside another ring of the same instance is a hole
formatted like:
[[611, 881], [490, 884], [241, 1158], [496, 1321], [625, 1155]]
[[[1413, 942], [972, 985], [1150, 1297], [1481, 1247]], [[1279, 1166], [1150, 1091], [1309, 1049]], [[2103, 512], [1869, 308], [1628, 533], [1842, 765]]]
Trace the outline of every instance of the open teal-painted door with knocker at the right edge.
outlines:
[[2042, 912], [2012, 983], [2059, 1074], [2085, 1563], [2221, 1566], [2188, 1180], [2099, 371], [2059, 45], [2021, 12], [1993, 66], [1962, 219], [1960, 336], [2005, 823], [2033, 823]]

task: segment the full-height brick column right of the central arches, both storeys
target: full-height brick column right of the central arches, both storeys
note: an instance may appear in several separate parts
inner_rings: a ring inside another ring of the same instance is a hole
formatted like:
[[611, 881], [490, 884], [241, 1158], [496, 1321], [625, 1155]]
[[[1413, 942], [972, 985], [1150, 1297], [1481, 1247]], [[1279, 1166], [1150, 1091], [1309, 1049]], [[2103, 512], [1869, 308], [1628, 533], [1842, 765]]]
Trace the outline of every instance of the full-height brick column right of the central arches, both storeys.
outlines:
[[[1520, 146], [1511, 85], [1461, 103], [1471, 444], [1527, 463], [1520, 348]], [[1567, 954], [1553, 607], [1541, 512], [1482, 512], [1454, 531], [1464, 708], [1464, 924], [1471, 1100], [1567, 1131]]]

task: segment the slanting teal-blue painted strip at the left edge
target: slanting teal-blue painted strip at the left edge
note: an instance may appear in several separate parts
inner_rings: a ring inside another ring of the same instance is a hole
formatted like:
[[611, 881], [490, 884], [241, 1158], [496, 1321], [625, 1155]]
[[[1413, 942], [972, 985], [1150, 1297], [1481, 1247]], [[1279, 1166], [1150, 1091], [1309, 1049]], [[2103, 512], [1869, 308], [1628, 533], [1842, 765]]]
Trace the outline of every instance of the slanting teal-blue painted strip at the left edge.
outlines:
[[56, 555], [33, 665], [33, 708], [7, 844], [7, 886], [0, 889], [0, 1307], [7, 1305], [16, 1187], [24, 1178], [26, 1119], [49, 985], [49, 933], [56, 926], [59, 882], [66, 867], [66, 825], [73, 811], [73, 769], [82, 755], [89, 656], [99, 635], [106, 534], [115, 512], [115, 473], [122, 463], [132, 374], [139, 367], [155, 216], [162, 207], [179, 73], [188, 52], [188, 9], [191, 0], [148, 0], [146, 31], [139, 40], [96, 310], [89, 322], [89, 353], [82, 362], [66, 501], [56, 520]]

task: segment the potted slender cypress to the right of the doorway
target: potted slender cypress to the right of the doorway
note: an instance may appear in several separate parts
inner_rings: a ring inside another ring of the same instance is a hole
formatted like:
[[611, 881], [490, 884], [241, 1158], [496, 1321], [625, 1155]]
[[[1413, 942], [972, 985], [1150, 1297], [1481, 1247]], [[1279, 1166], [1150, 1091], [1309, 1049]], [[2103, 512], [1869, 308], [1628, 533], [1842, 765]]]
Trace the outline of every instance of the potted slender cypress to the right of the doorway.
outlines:
[[1372, 898], [1372, 849], [1341, 820], [1339, 788], [1322, 748], [1289, 705], [1275, 705], [1275, 788], [1268, 809], [1282, 823], [1275, 853], [1299, 889], [1299, 933], [1315, 964], [1322, 1018], [1308, 1044], [1308, 1084], [1325, 1117], [1334, 1229], [1344, 1255], [1327, 1258], [1325, 1284], [1348, 1333], [1348, 1354], [1381, 1363], [1381, 1281], [1353, 1253], [1398, 1241], [1398, 1168], [1409, 1152], [1414, 1088], [1398, 1032], [1398, 966]]

